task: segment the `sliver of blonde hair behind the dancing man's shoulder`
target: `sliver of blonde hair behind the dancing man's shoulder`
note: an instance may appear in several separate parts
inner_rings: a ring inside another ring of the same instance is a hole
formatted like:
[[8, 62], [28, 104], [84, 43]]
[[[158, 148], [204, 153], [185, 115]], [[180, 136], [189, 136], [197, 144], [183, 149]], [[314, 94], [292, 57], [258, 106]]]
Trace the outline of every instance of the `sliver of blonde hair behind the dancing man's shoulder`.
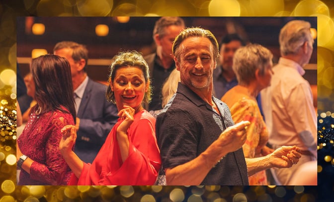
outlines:
[[176, 93], [178, 82], [181, 81], [180, 71], [176, 68], [173, 69], [168, 78], [166, 79], [162, 89], [162, 106], [163, 108], [167, 105], [168, 100]]

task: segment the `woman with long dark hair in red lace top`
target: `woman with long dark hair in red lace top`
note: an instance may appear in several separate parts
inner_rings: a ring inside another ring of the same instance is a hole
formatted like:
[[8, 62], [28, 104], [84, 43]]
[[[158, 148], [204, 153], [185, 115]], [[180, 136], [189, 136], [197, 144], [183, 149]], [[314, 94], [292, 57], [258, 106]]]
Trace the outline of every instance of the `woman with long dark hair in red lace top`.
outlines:
[[37, 104], [17, 139], [18, 185], [66, 185], [71, 169], [59, 151], [61, 129], [76, 119], [71, 68], [66, 59], [40, 56], [31, 62]]

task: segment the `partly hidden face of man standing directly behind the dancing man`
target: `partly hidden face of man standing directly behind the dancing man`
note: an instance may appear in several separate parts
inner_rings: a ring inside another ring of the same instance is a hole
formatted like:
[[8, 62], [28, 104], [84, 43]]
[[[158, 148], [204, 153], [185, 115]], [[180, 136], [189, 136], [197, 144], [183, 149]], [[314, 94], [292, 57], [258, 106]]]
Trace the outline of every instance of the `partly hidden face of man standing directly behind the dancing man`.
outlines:
[[163, 36], [156, 36], [156, 42], [158, 46], [162, 48], [162, 54], [164, 57], [173, 60], [173, 54], [171, 52], [171, 47], [175, 40], [175, 37], [183, 30], [183, 26], [170, 25], [165, 27], [165, 34]]

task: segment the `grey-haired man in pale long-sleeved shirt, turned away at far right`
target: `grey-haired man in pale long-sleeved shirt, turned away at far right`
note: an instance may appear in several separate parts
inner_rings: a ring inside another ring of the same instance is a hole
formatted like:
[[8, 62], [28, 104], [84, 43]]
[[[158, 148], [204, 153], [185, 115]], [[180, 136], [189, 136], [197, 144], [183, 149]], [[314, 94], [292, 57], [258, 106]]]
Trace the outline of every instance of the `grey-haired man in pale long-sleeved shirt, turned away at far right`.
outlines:
[[[317, 117], [310, 84], [302, 75], [313, 52], [311, 24], [292, 20], [280, 31], [281, 58], [273, 67], [271, 86], [261, 91], [262, 107], [269, 131], [268, 142], [275, 149], [281, 145], [297, 145], [302, 157], [289, 169], [272, 168], [278, 185], [287, 185], [295, 171], [308, 161], [317, 159]], [[315, 167], [314, 172], [317, 172]]]

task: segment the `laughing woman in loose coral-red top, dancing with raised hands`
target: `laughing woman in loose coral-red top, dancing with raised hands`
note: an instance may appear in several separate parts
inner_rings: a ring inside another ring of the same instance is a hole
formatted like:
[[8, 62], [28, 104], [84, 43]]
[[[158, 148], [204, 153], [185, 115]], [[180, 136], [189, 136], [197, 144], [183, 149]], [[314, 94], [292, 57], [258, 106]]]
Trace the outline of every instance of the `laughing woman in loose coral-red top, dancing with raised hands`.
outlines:
[[151, 86], [149, 67], [140, 53], [121, 52], [113, 58], [106, 96], [116, 104], [119, 119], [92, 164], [71, 149], [75, 126], [62, 130], [59, 147], [73, 171], [69, 185], [154, 185], [161, 159], [156, 120], [142, 106], [151, 100]]

